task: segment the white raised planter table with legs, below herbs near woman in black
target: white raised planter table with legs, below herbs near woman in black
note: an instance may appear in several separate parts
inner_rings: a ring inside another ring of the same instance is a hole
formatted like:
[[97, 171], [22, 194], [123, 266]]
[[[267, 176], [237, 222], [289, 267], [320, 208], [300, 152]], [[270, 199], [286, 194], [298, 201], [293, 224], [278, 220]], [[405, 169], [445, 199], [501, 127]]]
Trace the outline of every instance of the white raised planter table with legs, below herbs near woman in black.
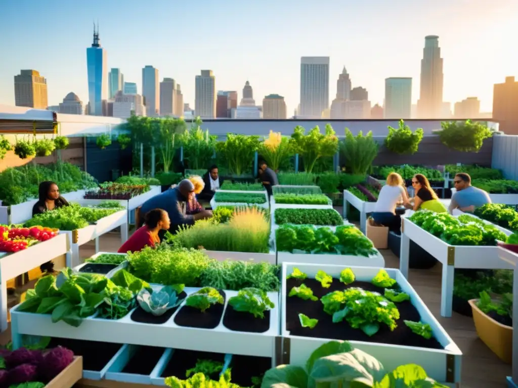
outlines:
[[99, 251], [99, 240], [98, 237], [103, 234], [121, 227], [121, 244], [124, 244], [128, 239], [128, 219], [127, 209], [113, 213], [108, 217], [99, 219], [93, 225], [81, 229], [75, 229], [72, 231], [62, 231], [68, 234], [68, 238], [71, 241], [70, 250], [67, 253], [67, 263], [70, 263], [70, 267], [75, 267], [79, 264], [79, 247], [88, 243], [89, 241], [95, 240], [95, 252]]

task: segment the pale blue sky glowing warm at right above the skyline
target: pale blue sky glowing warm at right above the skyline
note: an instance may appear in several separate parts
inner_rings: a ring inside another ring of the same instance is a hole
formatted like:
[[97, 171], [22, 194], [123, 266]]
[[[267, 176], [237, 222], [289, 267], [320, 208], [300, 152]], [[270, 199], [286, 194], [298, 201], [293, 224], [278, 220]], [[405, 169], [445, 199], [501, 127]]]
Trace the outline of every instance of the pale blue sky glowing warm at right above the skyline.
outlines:
[[424, 37], [438, 35], [443, 100], [476, 96], [491, 112], [493, 84], [518, 78], [518, 0], [0, 0], [0, 105], [15, 105], [20, 69], [47, 79], [49, 105], [69, 92], [88, 102], [86, 49], [99, 22], [108, 68], [142, 91], [142, 67], [174, 78], [194, 108], [195, 76], [213, 70], [217, 90], [242, 97], [249, 80], [257, 105], [300, 99], [300, 57], [329, 56], [329, 102], [346, 66], [352, 86], [383, 103], [384, 79], [412, 77], [419, 98]]

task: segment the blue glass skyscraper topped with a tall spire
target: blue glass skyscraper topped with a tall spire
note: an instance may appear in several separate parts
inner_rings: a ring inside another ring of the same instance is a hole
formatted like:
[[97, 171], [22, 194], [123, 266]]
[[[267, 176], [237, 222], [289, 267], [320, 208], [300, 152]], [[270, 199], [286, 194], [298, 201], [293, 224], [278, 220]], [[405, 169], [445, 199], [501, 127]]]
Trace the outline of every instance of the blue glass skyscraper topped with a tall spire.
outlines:
[[106, 50], [100, 47], [99, 26], [94, 24], [92, 47], [87, 48], [89, 114], [103, 115], [103, 100], [108, 97], [108, 59]]

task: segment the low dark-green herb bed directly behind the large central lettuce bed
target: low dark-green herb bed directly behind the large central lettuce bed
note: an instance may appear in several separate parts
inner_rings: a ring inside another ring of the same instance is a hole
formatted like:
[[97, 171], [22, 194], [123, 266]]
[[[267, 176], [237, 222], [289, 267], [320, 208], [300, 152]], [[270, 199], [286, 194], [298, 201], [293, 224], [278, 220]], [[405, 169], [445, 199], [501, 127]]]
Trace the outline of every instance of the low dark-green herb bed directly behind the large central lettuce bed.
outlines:
[[294, 223], [296, 225], [342, 225], [343, 218], [334, 209], [293, 209], [275, 210], [275, 223]]

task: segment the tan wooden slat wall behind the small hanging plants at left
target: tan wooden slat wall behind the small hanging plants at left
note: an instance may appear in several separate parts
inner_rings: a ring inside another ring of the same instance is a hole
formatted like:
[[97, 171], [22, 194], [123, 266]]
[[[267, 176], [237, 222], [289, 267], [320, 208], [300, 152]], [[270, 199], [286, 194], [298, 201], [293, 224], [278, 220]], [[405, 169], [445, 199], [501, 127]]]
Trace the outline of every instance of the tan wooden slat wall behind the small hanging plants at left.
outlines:
[[[70, 144], [66, 150], [61, 151], [61, 159], [84, 167], [84, 143], [83, 138], [68, 138]], [[20, 159], [14, 152], [9, 151], [4, 159], [0, 160], [0, 171], [4, 171], [8, 167], [18, 167], [26, 165], [28, 162], [34, 161], [38, 165], [47, 165], [57, 161], [57, 152], [54, 151], [51, 156], [36, 157], [28, 159]]]

